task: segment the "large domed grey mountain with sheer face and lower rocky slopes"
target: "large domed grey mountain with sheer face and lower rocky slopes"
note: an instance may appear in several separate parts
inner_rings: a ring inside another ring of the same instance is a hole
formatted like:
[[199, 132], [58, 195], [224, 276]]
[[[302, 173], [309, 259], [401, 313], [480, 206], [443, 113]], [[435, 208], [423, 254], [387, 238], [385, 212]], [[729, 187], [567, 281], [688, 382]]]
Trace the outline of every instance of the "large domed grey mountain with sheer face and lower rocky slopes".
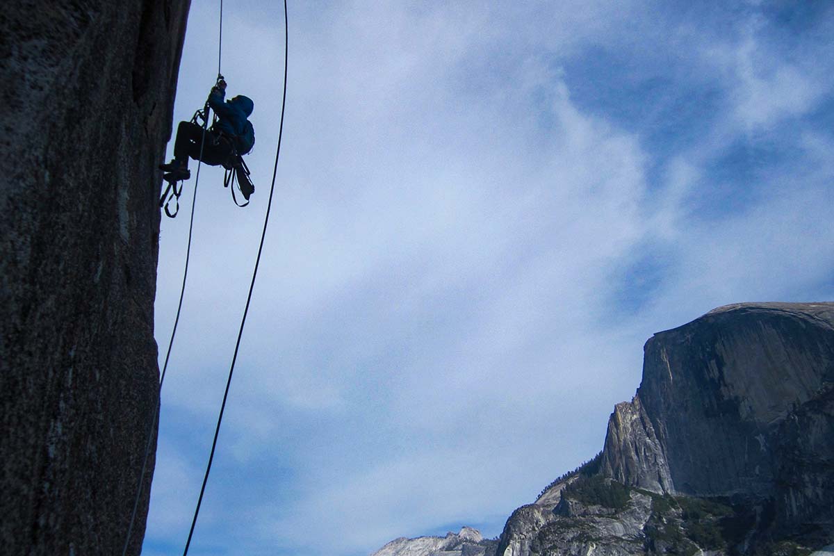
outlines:
[[834, 303], [656, 334], [605, 447], [510, 516], [499, 556], [807, 554], [834, 539]]

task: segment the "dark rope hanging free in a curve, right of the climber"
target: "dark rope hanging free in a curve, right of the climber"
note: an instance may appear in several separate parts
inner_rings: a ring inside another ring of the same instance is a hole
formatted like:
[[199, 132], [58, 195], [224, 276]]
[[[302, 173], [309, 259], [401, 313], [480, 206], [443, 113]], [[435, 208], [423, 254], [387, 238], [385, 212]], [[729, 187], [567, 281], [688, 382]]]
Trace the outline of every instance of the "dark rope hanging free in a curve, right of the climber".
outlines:
[[191, 538], [194, 533], [194, 526], [197, 524], [197, 516], [200, 512], [200, 505], [203, 503], [203, 493], [205, 493], [206, 483], [208, 483], [208, 473], [211, 472], [211, 464], [214, 461], [214, 450], [217, 448], [217, 438], [220, 433], [220, 423], [223, 421], [223, 413], [226, 408], [226, 400], [229, 398], [229, 387], [232, 384], [232, 374], [234, 373], [234, 363], [238, 360], [238, 353], [240, 349], [240, 339], [244, 335], [244, 325], [246, 324], [246, 316], [249, 314], [249, 303], [252, 301], [252, 292], [255, 287], [255, 278], [258, 276], [258, 267], [260, 265], [261, 254], [264, 251], [264, 239], [266, 238], [266, 229], [269, 225], [269, 212], [272, 208], [272, 198], [275, 192], [275, 178], [278, 175], [278, 159], [281, 154], [281, 137], [284, 133], [284, 108], [287, 104], [287, 65], [289, 57], [289, 25], [287, 23], [287, 0], [284, 0], [284, 97], [281, 101], [281, 123], [278, 131], [278, 147], [275, 150], [275, 164], [272, 172], [272, 184], [269, 188], [269, 201], [266, 205], [266, 216], [264, 217], [264, 230], [261, 232], [260, 244], [258, 246], [258, 257], [255, 258], [255, 267], [252, 273], [252, 282], [249, 283], [249, 295], [246, 298], [246, 307], [244, 308], [244, 316], [240, 320], [240, 329], [238, 331], [238, 339], [234, 344], [234, 355], [232, 356], [232, 364], [229, 367], [229, 378], [226, 380], [226, 390], [223, 394], [223, 403], [220, 405], [220, 413], [217, 418], [217, 426], [214, 428], [214, 440], [211, 445], [211, 452], [208, 454], [208, 464], [206, 465], [206, 472], [203, 475], [203, 485], [200, 487], [200, 495], [197, 500], [197, 507], [194, 508], [194, 517], [191, 521], [191, 528], [188, 531], [188, 540], [185, 543], [183, 556], [188, 554], [188, 547], [191, 545]]

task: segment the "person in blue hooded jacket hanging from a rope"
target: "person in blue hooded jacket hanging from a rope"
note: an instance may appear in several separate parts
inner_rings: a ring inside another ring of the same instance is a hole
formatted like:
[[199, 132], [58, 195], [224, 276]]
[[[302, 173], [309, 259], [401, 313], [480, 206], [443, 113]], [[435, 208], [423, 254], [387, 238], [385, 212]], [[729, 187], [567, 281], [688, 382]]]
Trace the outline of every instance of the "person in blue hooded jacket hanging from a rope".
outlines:
[[[180, 122], [177, 128], [177, 138], [173, 143], [173, 160], [168, 164], [160, 164], [159, 169], [166, 173], [163, 178], [168, 183], [191, 178], [188, 171], [188, 157], [201, 159], [209, 166], [223, 165], [228, 170], [234, 170], [240, 184], [240, 192], [244, 198], [254, 192], [254, 185], [249, 181], [248, 172], [244, 171], [244, 154], [252, 150], [255, 142], [254, 128], [247, 119], [252, 113], [254, 103], [249, 97], [238, 95], [224, 103], [226, 82], [223, 76], [218, 78], [217, 84], [208, 95], [208, 107], [214, 110], [217, 121], [211, 128], [205, 130], [205, 145], [202, 158], [200, 157], [200, 142], [203, 138], [203, 127], [197, 123], [197, 118], [191, 122]], [[208, 118], [208, 114], [203, 114]]]

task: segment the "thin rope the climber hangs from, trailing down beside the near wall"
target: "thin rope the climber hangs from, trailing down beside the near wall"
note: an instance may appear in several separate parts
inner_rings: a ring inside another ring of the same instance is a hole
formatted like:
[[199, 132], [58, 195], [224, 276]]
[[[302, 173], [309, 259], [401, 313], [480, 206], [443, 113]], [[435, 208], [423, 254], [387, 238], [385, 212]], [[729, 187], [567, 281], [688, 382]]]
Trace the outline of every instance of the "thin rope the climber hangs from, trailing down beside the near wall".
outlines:
[[[217, 73], [220, 76], [220, 56], [223, 52], [223, 0], [220, 0], [220, 30], [219, 30], [219, 40], [218, 40], [218, 68]], [[196, 117], [196, 115], [195, 115]], [[193, 198], [191, 200], [191, 215], [188, 219], [188, 244], [185, 248], [185, 268], [183, 268], [183, 285], [182, 288], [179, 290], [179, 301], [177, 303], [177, 315], [173, 319], [173, 328], [171, 330], [171, 338], [168, 340], [168, 351], [165, 353], [165, 363], [163, 363], [162, 373], [159, 376], [159, 388], [157, 391], [157, 399], [156, 404], [153, 408], [153, 414], [151, 416], [151, 423], [150, 427], [148, 427], [148, 442], [145, 444], [145, 454], [142, 460], [142, 471], [139, 473], [139, 484], [136, 488], [136, 498], [133, 500], [133, 512], [130, 514], [130, 523], [128, 523], [128, 533], [124, 539], [124, 547], [122, 549], [122, 556], [125, 556], [128, 553], [128, 546], [130, 545], [130, 538], [131, 534], [133, 533], [133, 523], [136, 522], [136, 513], [139, 507], [139, 500], [142, 498], [142, 490], [144, 486], [144, 479], [145, 479], [145, 472], [148, 468], [148, 457], [151, 451], [151, 443], [153, 443], [153, 429], [156, 428], [157, 419], [159, 417], [159, 405], [162, 403], [162, 385], [165, 382], [165, 373], [168, 371], [168, 361], [171, 358], [171, 349], [173, 348], [173, 338], [177, 335], [177, 326], [179, 323], [179, 315], [183, 309], [183, 298], [185, 297], [185, 283], [188, 279], [188, 261], [191, 258], [191, 239], [193, 237], [193, 229], [194, 229], [194, 208], [197, 205], [197, 188], [200, 183], [200, 167], [202, 165], [203, 160], [203, 147], [205, 145], [206, 139], [206, 131], [208, 129], [208, 102], [203, 107], [203, 134], [200, 138], [200, 153], [199, 158], [197, 159], [197, 173], [194, 176], [194, 193]], [[176, 185], [173, 186], [174, 191], [176, 191]], [[182, 191], [182, 188], [180, 188]], [[179, 195], [176, 195], [179, 198]], [[177, 210], [179, 210], [179, 203], [177, 203]], [[166, 203], [165, 212], [168, 213], [168, 205]], [[176, 213], [174, 213], [176, 215]], [[171, 216], [168, 213], [168, 216]]]

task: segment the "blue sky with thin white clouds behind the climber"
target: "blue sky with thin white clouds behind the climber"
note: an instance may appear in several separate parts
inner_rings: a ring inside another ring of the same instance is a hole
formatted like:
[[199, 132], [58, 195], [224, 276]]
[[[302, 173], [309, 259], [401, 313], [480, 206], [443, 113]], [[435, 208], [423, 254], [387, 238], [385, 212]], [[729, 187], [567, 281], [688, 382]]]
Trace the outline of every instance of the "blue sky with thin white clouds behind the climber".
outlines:
[[[182, 552], [214, 434], [278, 141], [282, 8], [224, 6], [256, 190], [236, 208], [201, 168], [146, 556]], [[175, 120], [214, 84], [218, 18], [193, 0]], [[600, 450], [653, 333], [834, 300], [832, 38], [828, 2], [290, 0], [274, 204], [192, 553], [495, 537]], [[194, 185], [163, 217], [162, 355]]]

